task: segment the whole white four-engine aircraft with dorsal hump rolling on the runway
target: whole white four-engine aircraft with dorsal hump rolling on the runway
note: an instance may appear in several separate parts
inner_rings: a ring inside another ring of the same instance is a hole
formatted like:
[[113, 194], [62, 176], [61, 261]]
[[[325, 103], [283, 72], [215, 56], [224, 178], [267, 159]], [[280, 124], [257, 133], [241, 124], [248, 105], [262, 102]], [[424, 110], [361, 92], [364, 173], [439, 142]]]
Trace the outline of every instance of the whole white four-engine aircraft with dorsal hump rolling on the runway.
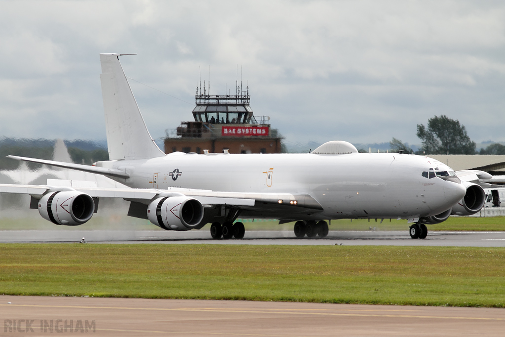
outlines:
[[426, 224], [484, 205], [485, 172], [460, 174], [416, 155], [358, 153], [346, 141], [329, 141], [310, 154], [165, 155], [147, 131], [121, 55], [100, 54], [109, 161], [86, 166], [9, 157], [103, 174], [130, 188], [1, 184], [0, 192], [29, 194], [30, 208], [68, 226], [88, 221], [99, 198], [123, 198], [131, 202], [129, 216], [167, 230], [212, 223], [213, 238], [242, 238], [243, 224], [233, 224], [239, 216], [296, 221], [297, 237], [326, 236], [331, 219], [409, 219], [411, 237], [425, 238]]

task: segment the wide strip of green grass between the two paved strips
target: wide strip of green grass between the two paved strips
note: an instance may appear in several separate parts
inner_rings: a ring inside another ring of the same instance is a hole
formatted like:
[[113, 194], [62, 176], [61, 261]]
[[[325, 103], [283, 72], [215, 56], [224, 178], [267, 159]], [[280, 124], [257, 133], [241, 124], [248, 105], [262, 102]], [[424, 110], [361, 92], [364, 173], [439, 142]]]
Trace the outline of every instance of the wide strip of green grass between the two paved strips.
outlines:
[[0, 245], [0, 294], [505, 307], [505, 249]]

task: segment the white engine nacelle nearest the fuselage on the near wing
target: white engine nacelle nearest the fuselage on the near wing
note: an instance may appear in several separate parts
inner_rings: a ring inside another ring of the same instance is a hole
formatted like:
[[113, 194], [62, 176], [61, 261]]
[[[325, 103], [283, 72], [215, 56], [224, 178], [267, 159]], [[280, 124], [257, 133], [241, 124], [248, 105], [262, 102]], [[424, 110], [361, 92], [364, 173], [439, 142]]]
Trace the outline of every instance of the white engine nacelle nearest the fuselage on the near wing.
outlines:
[[204, 218], [204, 206], [193, 198], [161, 197], [147, 206], [147, 218], [167, 230], [189, 230]]

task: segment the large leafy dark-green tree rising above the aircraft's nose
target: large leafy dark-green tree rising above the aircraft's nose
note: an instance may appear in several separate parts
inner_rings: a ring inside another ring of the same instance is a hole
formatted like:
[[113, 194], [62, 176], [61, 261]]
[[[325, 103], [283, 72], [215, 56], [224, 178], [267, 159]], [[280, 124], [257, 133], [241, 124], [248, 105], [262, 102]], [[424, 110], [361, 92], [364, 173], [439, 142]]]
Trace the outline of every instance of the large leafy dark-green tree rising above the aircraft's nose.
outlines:
[[423, 150], [432, 155], [474, 155], [476, 144], [467, 135], [464, 125], [445, 115], [428, 119], [428, 127], [417, 125], [417, 136]]

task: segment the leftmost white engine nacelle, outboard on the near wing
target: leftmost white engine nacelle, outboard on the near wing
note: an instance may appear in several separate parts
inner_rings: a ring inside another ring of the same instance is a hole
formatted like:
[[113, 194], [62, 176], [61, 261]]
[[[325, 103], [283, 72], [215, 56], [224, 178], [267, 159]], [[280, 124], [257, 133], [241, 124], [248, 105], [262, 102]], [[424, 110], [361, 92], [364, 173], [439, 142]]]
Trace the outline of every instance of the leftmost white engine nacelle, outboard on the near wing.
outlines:
[[57, 225], [78, 226], [93, 216], [94, 201], [78, 191], [53, 192], [39, 200], [38, 212]]

